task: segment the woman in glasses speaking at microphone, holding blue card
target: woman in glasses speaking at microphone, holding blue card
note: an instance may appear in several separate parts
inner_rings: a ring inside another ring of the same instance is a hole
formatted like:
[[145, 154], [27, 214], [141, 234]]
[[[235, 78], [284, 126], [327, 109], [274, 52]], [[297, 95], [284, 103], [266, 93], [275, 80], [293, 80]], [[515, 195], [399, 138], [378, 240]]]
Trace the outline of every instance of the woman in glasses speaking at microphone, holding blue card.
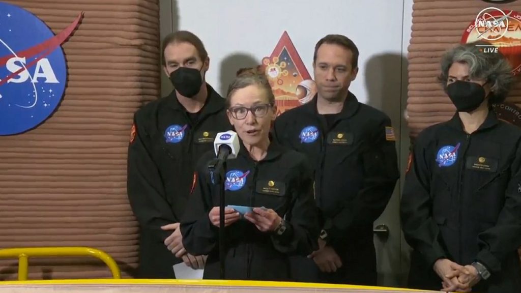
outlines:
[[[277, 106], [262, 72], [240, 71], [226, 100], [240, 150], [227, 162], [224, 179], [225, 278], [289, 280], [289, 255], [309, 255], [317, 249], [311, 165], [304, 155], [270, 139]], [[214, 158], [215, 153], [207, 153], [199, 161], [190, 213], [181, 221], [185, 249], [208, 255], [205, 279], [219, 278], [219, 195], [208, 173], [208, 162]]]

